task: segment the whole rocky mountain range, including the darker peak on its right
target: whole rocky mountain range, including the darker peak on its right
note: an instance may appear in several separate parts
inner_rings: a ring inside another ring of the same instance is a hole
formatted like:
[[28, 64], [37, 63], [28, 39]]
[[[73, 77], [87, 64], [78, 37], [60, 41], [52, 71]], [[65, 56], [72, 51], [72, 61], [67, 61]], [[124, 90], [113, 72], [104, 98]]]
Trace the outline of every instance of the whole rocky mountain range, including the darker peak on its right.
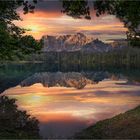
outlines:
[[88, 37], [82, 33], [63, 36], [44, 36], [43, 52], [60, 51], [84, 51], [84, 52], [108, 52], [112, 46], [98, 39]]

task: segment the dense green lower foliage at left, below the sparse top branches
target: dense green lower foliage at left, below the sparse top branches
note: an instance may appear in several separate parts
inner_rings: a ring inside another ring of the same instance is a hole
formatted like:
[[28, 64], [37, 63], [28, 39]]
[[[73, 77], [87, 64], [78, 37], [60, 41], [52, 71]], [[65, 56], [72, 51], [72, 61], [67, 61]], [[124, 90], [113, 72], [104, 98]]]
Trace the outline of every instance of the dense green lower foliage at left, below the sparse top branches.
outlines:
[[41, 42], [32, 36], [15, 36], [9, 34], [7, 25], [0, 21], [0, 60], [21, 60], [28, 54], [37, 53]]

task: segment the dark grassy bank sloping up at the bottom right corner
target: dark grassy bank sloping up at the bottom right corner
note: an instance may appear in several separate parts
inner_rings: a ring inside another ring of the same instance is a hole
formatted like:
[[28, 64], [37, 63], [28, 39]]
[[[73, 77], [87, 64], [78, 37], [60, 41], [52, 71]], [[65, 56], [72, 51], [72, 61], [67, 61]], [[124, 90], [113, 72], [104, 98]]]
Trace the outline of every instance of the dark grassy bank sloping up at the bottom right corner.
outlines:
[[140, 106], [111, 119], [97, 122], [74, 138], [77, 139], [139, 139]]

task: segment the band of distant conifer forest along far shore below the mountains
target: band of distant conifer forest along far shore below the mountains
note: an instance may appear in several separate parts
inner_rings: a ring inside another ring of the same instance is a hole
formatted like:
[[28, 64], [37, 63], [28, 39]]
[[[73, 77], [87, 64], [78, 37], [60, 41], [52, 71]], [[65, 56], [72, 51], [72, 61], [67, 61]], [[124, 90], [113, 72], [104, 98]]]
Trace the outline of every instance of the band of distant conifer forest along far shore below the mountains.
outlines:
[[106, 53], [46, 52], [30, 55], [26, 59], [43, 61], [58, 70], [87, 70], [95, 67], [140, 68], [140, 49], [125, 48]]

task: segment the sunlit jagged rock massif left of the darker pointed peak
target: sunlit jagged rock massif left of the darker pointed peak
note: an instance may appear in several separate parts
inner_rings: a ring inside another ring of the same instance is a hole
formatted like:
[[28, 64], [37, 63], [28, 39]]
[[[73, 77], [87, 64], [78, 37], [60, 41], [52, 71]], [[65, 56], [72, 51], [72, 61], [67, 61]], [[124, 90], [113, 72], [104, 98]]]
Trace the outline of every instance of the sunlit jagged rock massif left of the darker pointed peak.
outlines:
[[91, 42], [93, 39], [82, 33], [63, 36], [44, 36], [43, 52], [49, 51], [78, 51], [82, 46]]

